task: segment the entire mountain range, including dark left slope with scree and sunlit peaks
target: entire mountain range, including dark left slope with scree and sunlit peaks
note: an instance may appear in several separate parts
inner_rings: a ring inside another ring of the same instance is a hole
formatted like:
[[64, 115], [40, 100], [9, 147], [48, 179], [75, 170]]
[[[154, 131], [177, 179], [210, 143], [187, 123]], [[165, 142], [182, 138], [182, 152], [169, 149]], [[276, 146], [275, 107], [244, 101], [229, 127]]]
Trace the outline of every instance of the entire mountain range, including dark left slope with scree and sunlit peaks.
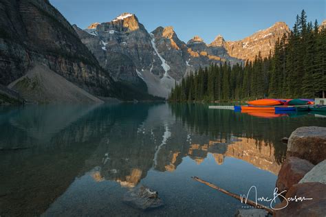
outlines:
[[0, 84], [32, 102], [166, 98], [199, 67], [267, 57], [290, 34], [278, 22], [241, 41], [194, 36], [184, 43], [173, 27], [148, 32], [130, 13], [82, 30], [48, 1], [3, 0], [0, 11]]

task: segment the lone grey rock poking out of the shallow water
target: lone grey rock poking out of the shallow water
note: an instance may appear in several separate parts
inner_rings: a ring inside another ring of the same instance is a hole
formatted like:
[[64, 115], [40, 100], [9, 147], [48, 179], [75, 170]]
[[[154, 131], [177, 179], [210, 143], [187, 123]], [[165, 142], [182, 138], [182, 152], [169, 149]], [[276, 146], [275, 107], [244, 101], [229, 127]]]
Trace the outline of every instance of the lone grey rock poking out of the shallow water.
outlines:
[[158, 193], [143, 185], [126, 192], [123, 196], [123, 202], [143, 211], [162, 207], [163, 205], [163, 201], [158, 196]]

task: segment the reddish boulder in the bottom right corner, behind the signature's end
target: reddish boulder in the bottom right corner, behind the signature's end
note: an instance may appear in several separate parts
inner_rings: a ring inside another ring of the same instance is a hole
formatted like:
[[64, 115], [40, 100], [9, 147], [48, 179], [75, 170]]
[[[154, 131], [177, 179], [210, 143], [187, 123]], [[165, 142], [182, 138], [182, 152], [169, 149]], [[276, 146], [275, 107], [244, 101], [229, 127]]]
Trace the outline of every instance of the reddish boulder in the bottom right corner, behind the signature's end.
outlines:
[[[300, 200], [305, 197], [305, 200]], [[325, 216], [326, 185], [322, 183], [301, 183], [293, 185], [287, 192], [283, 202], [276, 205], [274, 217], [278, 216]], [[294, 200], [297, 199], [297, 201]], [[298, 199], [299, 198], [299, 199]], [[308, 198], [312, 198], [307, 200]]]

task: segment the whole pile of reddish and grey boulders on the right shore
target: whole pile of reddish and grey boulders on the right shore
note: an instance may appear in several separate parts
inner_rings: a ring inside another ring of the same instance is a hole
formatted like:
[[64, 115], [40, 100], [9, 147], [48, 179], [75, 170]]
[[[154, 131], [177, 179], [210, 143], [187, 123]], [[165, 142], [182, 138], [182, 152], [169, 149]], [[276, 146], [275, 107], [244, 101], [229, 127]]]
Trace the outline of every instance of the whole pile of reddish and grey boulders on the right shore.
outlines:
[[[276, 182], [279, 192], [290, 190], [280, 195], [283, 201], [276, 205], [273, 216], [325, 216], [325, 139], [323, 127], [300, 127], [291, 134], [287, 159]], [[307, 160], [318, 164], [313, 166]]]

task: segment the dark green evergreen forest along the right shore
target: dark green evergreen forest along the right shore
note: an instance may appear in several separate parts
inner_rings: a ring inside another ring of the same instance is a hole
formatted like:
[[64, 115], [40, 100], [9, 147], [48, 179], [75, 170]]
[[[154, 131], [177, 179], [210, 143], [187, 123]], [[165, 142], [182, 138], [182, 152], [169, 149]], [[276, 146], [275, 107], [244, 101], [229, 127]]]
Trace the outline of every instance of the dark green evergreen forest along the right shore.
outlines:
[[326, 29], [296, 16], [289, 36], [276, 41], [268, 58], [256, 56], [245, 65], [230, 62], [199, 68], [172, 89], [169, 100], [230, 101], [256, 98], [325, 97]]

